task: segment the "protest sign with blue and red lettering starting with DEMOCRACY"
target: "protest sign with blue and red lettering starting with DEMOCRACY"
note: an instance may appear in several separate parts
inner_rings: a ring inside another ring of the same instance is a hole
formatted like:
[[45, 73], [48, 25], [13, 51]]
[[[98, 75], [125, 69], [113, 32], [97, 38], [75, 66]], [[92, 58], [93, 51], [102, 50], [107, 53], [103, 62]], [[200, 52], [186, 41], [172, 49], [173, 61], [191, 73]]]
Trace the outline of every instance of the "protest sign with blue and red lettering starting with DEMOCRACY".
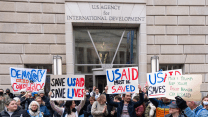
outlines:
[[46, 69], [27, 69], [10, 67], [10, 78], [13, 92], [21, 89], [37, 92], [43, 89], [46, 80]]

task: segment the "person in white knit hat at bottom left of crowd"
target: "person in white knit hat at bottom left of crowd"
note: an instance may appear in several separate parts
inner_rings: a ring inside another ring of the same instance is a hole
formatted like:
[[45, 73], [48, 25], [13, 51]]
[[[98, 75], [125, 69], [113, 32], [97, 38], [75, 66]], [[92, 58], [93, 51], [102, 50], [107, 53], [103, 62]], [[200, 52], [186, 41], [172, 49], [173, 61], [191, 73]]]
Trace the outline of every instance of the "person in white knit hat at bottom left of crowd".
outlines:
[[27, 110], [30, 117], [43, 117], [40, 112], [40, 105], [36, 101], [32, 101], [29, 105], [29, 110]]

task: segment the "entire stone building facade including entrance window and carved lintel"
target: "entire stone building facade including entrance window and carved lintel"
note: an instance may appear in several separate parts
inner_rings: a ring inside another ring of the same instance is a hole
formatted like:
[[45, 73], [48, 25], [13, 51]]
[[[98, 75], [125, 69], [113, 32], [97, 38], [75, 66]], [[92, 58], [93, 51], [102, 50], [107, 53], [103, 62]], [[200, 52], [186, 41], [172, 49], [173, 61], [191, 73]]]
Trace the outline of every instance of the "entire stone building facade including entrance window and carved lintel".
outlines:
[[202, 74], [208, 93], [208, 0], [1, 0], [0, 88], [9, 67], [47, 69], [62, 56], [63, 74], [106, 85], [105, 69], [138, 66], [146, 83], [150, 58], [160, 69]]

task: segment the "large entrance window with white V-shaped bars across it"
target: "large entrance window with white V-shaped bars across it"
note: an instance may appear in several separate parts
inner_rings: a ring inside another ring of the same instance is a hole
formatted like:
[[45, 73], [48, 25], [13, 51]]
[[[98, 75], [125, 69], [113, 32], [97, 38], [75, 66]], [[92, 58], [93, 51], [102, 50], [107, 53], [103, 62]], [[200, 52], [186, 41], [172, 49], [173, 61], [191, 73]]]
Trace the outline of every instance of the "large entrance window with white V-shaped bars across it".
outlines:
[[102, 64], [137, 65], [137, 30], [74, 27], [75, 73], [90, 74]]

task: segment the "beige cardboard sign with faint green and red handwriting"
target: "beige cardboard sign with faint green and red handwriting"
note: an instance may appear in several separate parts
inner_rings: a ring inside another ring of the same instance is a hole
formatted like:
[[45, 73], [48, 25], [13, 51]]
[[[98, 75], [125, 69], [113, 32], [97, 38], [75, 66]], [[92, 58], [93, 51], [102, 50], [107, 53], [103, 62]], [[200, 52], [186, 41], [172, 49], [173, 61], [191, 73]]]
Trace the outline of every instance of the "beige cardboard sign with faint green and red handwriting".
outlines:
[[186, 101], [200, 101], [202, 75], [170, 76], [166, 79], [166, 97], [175, 100], [176, 96]]

